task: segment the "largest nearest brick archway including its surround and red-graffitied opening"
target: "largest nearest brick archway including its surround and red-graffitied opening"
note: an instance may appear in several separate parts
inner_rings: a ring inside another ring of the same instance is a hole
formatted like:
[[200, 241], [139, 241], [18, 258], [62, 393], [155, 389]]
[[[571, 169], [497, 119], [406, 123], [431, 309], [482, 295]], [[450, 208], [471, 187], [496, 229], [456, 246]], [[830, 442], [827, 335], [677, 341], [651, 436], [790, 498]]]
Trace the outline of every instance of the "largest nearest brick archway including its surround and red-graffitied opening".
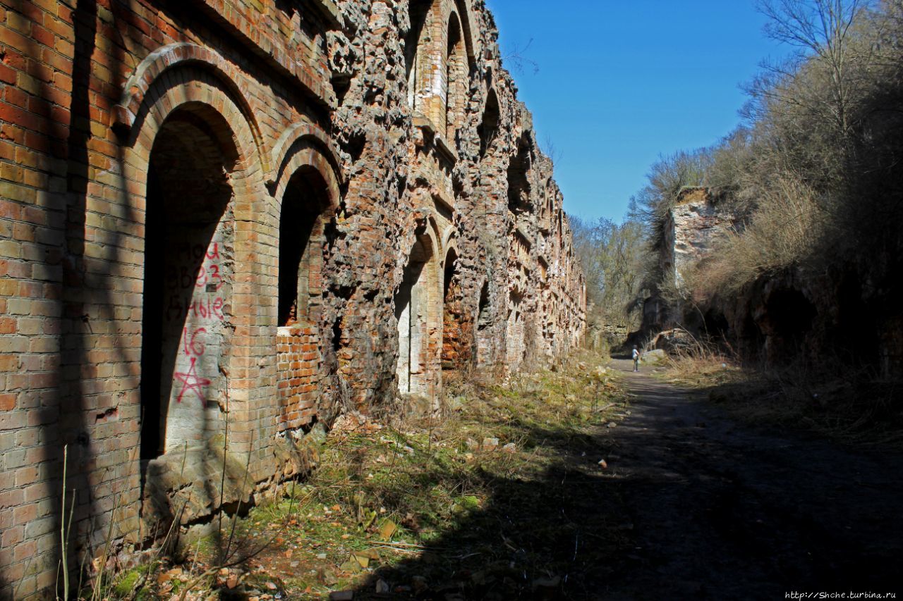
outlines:
[[263, 273], [247, 244], [255, 227], [247, 216], [265, 188], [246, 103], [221, 72], [181, 64], [165, 72], [135, 108], [123, 160], [129, 202], [144, 217], [144, 459], [224, 431], [227, 404], [229, 421], [247, 421], [247, 395], [232, 391], [250, 386], [228, 374], [249, 352], [244, 320]]

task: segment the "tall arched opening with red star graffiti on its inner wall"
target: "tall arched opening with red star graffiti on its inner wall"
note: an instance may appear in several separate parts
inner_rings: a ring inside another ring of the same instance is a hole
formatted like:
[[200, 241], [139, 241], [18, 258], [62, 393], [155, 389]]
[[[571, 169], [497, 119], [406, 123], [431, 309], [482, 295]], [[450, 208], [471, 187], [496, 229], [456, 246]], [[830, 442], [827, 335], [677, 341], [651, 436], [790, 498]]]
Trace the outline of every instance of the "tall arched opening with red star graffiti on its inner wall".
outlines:
[[219, 430], [231, 326], [237, 163], [225, 119], [207, 105], [174, 110], [154, 137], [147, 174], [141, 354], [141, 458]]

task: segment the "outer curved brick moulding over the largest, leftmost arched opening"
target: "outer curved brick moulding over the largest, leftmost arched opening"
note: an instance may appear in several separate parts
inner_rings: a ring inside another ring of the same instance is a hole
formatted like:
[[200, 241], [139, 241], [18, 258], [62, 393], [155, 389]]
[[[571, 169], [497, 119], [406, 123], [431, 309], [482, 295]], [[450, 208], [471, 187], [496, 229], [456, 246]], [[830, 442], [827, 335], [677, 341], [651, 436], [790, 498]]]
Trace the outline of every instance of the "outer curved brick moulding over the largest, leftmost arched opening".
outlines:
[[190, 42], [167, 44], [144, 57], [144, 60], [135, 68], [132, 76], [126, 80], [122, 97], [116, 106], [113, 107], [112, 125], [125, 128], [126, 130], [132, 129], [144, 105], [144, 98], [147, 97], [148, 91], [160, 80], [163, 72], [186, 66], [193, 66], [208, 71], [219, 79], [228, 90], [228, 96], [232, 98], [233, 103], [239, 108], [245, 121], [247, 121], [258, 150], [261, 166], [265, 171], [269, 171], [269, 159], [263, 153], [263, 136], [260, 134], [260, 127], [256, 123], [254, 111], [251, 110], [247, 98], [244, 97], [241, 88], [237, 84], [237, 69], [228, 60], [220, 56], [217, 51], [197, 44]]

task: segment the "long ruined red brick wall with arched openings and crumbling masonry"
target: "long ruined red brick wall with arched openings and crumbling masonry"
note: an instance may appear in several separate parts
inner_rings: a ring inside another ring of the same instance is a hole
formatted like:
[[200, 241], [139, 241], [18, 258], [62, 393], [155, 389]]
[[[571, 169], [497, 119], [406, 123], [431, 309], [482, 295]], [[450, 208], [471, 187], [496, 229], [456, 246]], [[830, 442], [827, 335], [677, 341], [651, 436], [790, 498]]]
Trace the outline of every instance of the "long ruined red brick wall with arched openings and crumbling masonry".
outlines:
[[341, 411], [581, 340], [481, 0], [0, 0], [0, 32], [0, 597], [56, 586], [64, 447], [68, 556], [128, 551], [219, 502], [174, 517], [175, 466], [246, 499]]

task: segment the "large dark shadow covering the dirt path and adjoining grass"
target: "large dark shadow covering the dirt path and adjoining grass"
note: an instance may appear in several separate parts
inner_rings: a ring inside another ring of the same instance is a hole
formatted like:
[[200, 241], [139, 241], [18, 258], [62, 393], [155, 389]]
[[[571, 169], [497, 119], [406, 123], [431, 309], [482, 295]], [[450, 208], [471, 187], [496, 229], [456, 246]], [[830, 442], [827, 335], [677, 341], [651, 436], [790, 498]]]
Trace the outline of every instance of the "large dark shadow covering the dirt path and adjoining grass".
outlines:
[[899, 455], [742, 425], [615, 365], [635, 395], [623, 422], [590, 436], [525, 430], [556, 449], [553, 464], [490, 478], [488, 502], [355, 598], [898, 591]]

